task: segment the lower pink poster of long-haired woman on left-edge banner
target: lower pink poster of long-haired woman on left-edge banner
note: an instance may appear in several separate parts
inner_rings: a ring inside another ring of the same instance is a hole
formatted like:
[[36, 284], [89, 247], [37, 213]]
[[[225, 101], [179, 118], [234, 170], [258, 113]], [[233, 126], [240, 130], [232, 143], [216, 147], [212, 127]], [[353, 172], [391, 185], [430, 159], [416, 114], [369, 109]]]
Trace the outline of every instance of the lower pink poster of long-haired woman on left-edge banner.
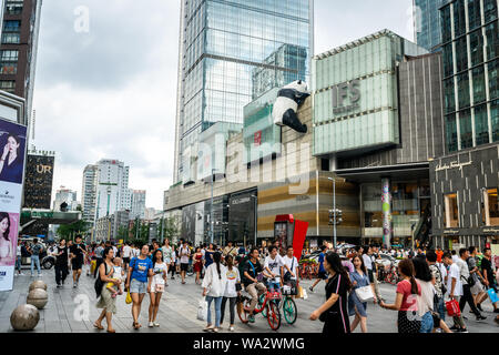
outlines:
[[0, 266], [16, 264], [19, 213], [0, 212]]

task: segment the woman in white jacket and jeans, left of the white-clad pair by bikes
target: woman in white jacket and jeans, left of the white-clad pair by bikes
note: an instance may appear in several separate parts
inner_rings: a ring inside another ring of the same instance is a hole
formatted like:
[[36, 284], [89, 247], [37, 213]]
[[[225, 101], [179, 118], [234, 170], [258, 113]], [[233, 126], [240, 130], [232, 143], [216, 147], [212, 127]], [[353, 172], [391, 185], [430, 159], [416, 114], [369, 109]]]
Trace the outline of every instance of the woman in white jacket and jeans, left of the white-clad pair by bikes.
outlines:
[[[203, 278], [203, 297], [206, 296], [207, 302], [207, 325], [205, 332], [218, 332], [221, 320], [222, 297], [225, 292], [227, 280], [226, 267], [222, 265], [222, 254], [216, 252], [213, 254], [213, 264], [206, 268], [206, 274]], [[211, 305], [215, 303], [215, 325], [212, 324]]]

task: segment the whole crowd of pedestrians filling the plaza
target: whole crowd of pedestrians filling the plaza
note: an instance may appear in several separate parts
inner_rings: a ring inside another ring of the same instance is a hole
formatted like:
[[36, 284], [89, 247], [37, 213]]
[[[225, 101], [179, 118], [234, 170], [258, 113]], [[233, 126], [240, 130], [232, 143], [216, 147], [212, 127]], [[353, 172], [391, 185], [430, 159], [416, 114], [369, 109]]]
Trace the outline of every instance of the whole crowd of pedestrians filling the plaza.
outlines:
[[[18, 257], [19, 254], [31, 256], [32, 275], [34, 268], [40, 272], [42, 252], [44, 246], [37, 240], [18, 245]], [[303, 251], [303, 254], [307, 252], [310, 251]], [[467, 322], [470, 322], [465, 314], [467, 305], [475, 322], [486, 321], [481, 305], [491, 300], [490, 290], [497, 293], [497, 274], [488, 247], [479, 253], [475, 246], [459, 251], [406, 251], [377, 245], [333, 250], [326, 244], [317, 252], [318, 273], [309, 291], [315, 292], [324, 281], [326, 300], [309, 318], [324, 322], [323, 332], [327, 334], [352, 333], [357, 327], [367, 333], [369, 303], [397, 311], [394, 324], [399, 333], [467, 333]], [[147, 325], [159, 327], [162, 295], [169, 278], [175, 280], [179, 275], [181, 285], [186, 284], [187, 275], [195, 275], [194, 282], [207, 302], [206, 332], [220, 332], [224, 320], [228, 323], [227, 329], [234, 331], [242, 290], [252, 298], [247, 311], [248, 321], [253, 323], [259, 294], [279, 293], [286, 282], [299, 283], [299, 260], [294, 256], [293, 247], [283, 250], [278, 243], [259, 248], [245, 248], [232, 242], [225, 246], [194, 247], [184, 240], [175, 244], [165, 240], [162, 245], [154, 240], [151, 245], [126, 242], [115, 245], [109, 241], [85, 245], [78, 235], [74, 241], [61, 239], [47, 253], [54, 258], [58, 287], [62, 287], [70, 274], [74, 288], [79, 287], [83, 272], [93, 275], [96, 306], [102, 308], [94, 326], [103, 329], [105, 318], [110, 333], [114, 333], [112, 315], [116, 313], [116, 297], [124, 293], [132, 303], [132, 327], [142, 327], [139, 320], [146, 293], [150, 297]], [[383, 254], [400, 260], [394, 303], [385, 302], [379, 291], [378, 268]], [[458, 311], [452, 316], [448, 315], [450, 304]], [[499, 313], [498, 303], [492, 306], [493, 312]], [[495, 322], [499, 323], [499, 315]]]

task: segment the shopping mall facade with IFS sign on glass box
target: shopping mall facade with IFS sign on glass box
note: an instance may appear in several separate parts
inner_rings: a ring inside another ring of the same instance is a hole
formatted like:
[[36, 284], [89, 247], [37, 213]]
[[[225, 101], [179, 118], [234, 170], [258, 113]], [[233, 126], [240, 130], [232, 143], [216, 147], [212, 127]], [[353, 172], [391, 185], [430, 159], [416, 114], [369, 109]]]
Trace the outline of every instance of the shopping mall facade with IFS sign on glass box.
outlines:
[[445, 149], [441, 55], [384, 30], [316, 55], [312, 77], [306, 134], [273, 124], [277, 89], [244, 108], [241, 128], [206, 131], [218, 143], [200, 144], [196, 179], [167, 192], [185, 239], [207, 242], [213, 225], [216, 243], [259, 244], [293, 214], [308, 222], [307, 245], [330, 242], [333, 178], [338, 241], [428, 236], [429, 166]]

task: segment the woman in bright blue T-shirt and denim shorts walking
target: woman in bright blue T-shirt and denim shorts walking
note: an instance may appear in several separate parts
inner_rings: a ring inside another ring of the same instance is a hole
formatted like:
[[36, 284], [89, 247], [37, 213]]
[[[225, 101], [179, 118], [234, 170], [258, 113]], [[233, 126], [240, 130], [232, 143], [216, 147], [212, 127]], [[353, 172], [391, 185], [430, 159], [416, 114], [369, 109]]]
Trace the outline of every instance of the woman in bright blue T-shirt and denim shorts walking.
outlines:
[[[133, 328], [139, 329], [142, 325], [139, 323], [141, 305], [145, 292], [151, 292], [151, 281], [153, 276], [153, 263], [149, 255], [149, 245], [141, 248], [141, 254], [130, 261], [130, 268], [126, 276], [126, 290], [130, 290], [132, 296], [132, 316]], [[129, 288], [130, 287], [130, 288]]]

